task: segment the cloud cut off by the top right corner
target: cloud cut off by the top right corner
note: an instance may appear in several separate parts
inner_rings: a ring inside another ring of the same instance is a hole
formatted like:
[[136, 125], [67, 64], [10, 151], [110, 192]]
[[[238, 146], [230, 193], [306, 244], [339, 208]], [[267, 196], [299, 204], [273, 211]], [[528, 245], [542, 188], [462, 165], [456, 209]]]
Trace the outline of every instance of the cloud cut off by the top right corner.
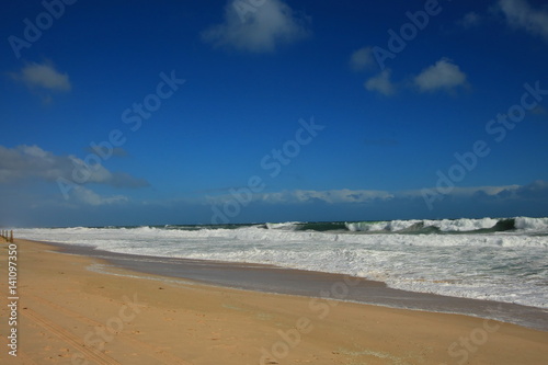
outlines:
[[548, 11], [533, 9], [526, 0], [499, 0], [499, 9], [511, 26], [524, 28], [548, 41]]

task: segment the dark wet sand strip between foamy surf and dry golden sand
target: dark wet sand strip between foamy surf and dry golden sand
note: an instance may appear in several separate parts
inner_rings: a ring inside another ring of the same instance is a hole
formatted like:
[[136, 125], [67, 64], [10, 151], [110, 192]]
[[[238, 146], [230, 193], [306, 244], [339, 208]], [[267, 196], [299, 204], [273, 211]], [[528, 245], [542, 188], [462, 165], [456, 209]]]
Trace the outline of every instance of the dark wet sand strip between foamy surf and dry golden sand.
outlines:
[[395, 309], [464, 315], [548, 331], [548, 310], [537, 307], [395, 289], [383, 282], [275, 265], [137, 255], [92, 247], [43, 243], [60, 248], [61, 252], [99, 258], [115, 267], [190, 280], [205, 285], [329, 298]]

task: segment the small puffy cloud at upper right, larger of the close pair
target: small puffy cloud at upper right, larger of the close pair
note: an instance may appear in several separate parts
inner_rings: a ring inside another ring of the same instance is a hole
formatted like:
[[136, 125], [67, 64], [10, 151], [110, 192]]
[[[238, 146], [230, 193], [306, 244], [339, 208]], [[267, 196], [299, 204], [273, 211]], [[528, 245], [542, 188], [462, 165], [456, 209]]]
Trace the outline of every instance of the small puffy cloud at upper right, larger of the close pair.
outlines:
[[414, 84], [420, 91], [450, 91], [467, 84], [466, 73], [448, 58], [442, 58], [435, 65], [425, 68], [414, 77]]

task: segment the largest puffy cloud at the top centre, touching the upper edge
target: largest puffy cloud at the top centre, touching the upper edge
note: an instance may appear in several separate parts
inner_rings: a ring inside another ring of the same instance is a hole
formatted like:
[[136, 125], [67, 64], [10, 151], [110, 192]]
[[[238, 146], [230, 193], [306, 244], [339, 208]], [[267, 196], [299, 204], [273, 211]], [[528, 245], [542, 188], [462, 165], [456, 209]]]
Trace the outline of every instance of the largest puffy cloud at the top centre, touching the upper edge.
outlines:
[[217, 47], [252, 53], [274, 52], [281, 44], [300, 41], [310, 34], [309, 19], [296, 15], [282, 0], [264, 0], [258, 7], [231, 0], [225, 21], [203, 32], [204, 41]]

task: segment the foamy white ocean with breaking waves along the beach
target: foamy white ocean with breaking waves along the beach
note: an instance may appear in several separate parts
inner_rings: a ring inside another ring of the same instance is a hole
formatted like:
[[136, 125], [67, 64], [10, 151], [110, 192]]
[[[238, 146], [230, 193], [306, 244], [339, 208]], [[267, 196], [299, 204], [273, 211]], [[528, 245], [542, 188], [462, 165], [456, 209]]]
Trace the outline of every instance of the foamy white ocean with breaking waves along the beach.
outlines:
[[16, 237], [345, 274], [409, 292], [548, 308], [548, 218], [27, 228]]

